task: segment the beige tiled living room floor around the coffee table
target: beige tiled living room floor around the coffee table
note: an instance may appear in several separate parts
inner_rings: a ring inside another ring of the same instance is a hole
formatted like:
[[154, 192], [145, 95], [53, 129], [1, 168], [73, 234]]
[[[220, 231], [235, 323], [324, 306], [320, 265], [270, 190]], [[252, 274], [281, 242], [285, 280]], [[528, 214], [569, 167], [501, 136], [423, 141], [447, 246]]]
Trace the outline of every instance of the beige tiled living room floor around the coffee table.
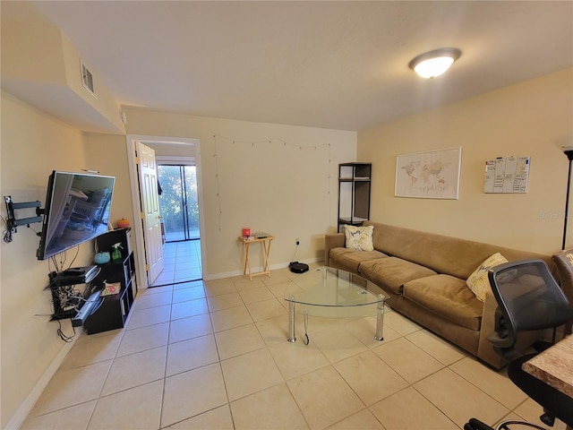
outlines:
[[[23, 429], [460, 429], [541, 409], [396, 312], [309, 318], [286, 341], [295, 275], [193, 281], [138, 294], [124, 330], [82, 335]], [[300, 319], [300, 318], [299, 318]]]

